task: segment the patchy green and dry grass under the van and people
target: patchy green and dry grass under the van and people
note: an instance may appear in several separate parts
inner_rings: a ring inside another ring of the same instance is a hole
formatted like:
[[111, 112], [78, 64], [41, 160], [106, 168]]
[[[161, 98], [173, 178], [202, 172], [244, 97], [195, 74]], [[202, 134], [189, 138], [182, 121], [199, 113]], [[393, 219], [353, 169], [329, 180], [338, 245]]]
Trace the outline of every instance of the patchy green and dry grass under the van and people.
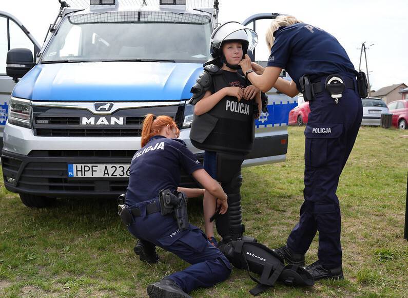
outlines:
[[[287, 161], [243, 170], [247, 234], [275, 248], [285, 243], [303, 201], [304, 136], [289, 127]], [[408, 297], [408, 242], [403, 239], [408, 139], [395, 129], [362, 127], [340, 178], [344, 281], [313, 288], [277, 284], [260, 296]], [[405, 133], [406, 134], [406, 133]], [[3, 175], [2, 175], [3, 176]], [[203, 227], [201, 199], [189, 201], [190, 221]], [[0, 296], [137, 296], [187, 264], [161, 249], [148, 265], [115, 214], [114, 200], [57, 200], [29, 209], [0, 189]], [[306, 254], [316, 260], [317, 241]], [[255, 284], [235, 269], [193, 297], [249, 297]]]

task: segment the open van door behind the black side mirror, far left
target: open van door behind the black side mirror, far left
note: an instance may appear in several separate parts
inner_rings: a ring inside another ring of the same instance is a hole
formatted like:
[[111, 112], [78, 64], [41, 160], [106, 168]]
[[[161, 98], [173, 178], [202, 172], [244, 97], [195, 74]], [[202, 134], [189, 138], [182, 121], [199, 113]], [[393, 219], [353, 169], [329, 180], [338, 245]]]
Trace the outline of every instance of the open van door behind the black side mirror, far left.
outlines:
[[[3, 130], [7, 121], [8, 104], [15, 86], [6, 74], [7, 52], [13, 48], [30, 49], [34, 55], [40, 51], [40, 45], [30, 32], [11, 14], [0, 11], [0, 146], [3, 147]], [[1, 149], [1, 148], [0, 148]]]

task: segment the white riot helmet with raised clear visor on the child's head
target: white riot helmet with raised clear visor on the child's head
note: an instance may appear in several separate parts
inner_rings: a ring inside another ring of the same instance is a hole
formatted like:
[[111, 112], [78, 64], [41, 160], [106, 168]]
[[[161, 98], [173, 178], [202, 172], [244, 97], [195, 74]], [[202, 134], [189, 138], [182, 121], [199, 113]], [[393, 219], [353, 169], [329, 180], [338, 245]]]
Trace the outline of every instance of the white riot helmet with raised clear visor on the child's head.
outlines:
[[212, 32], [211, 45], [219, 49], [222, 42], [227, 40], [247, 41], [248, 49], [253, 50], [258, 43], [258, 34], [238, 22], [228, 22]]

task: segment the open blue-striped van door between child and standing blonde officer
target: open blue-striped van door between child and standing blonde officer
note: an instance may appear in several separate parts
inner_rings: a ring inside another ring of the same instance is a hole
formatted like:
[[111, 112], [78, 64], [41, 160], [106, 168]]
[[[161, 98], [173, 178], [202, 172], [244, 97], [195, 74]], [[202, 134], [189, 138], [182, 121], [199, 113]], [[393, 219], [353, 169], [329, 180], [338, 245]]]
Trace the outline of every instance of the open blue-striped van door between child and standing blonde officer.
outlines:
[[[254, 61], [266, 66], [270, 49], [266, 46], [265, 34], [270, 22], [279, 13], [260, 13], [248, 17], [242, 24], [258, 34], [258, 45], [254, 52]], [[285, 70], [281, 78], [291, 80]], [[289, 111], [297, 106], [297, 97], [290, 98], [280, 93], [275, 88], [266, 92], [268, 96], [268, 112], [261, 113], [255, 121], [254, 150], [246, 158], [267, 159], [267, 162], [284, 161], [287, 152], [287, 125]], [[262, 144], [257, 144], [262, 142]]]

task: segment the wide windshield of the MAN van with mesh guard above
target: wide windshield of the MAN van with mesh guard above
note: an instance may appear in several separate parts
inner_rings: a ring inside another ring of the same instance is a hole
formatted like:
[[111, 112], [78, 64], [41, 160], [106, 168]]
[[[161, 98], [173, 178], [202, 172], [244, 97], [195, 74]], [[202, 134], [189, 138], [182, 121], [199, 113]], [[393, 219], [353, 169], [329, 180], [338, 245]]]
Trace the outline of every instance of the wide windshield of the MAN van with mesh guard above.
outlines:
[[209, 58], [209, 16], [174, 12], [104, 12], [66, 17], [41, 62], [172, 61]]

